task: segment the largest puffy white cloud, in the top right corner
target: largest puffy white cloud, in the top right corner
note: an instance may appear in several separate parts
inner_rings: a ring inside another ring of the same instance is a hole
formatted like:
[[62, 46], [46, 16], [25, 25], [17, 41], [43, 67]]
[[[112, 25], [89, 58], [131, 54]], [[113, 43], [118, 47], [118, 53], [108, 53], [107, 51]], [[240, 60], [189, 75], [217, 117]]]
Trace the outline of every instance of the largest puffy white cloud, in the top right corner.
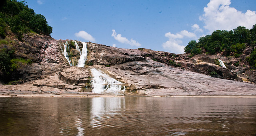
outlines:
[[217, 29], [231, 30], [238, 26], [250, 29], [256, 23], [255, 11], [242, 13], [230, 7], [230, 4], [230, 0], [210, 0], [207, 7], [204, 7], [204, 14], [199, 17], [204, 21], [204, 28], [210, 32]]

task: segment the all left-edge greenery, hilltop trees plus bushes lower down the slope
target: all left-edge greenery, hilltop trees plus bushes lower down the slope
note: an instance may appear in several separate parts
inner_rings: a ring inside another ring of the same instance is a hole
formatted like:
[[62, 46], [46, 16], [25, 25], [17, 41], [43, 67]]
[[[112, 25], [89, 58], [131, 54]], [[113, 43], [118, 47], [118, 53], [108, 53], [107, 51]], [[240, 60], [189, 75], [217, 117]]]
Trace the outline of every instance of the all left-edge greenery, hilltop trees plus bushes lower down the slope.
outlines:
[[22, 65], [32, 63], [29, 59], [16, 57], [12, 46], [15, 42], [6, 38], [11, 32], [22, 41], [23, 34], [28, 32], [50, 35], [52, 27], [47, 24], [44, 16], [35, 14], [33, 9], [28, 8], [26, 2], [0, 1], [0, 80], [5, 83], [11, 80], [11, 74]]

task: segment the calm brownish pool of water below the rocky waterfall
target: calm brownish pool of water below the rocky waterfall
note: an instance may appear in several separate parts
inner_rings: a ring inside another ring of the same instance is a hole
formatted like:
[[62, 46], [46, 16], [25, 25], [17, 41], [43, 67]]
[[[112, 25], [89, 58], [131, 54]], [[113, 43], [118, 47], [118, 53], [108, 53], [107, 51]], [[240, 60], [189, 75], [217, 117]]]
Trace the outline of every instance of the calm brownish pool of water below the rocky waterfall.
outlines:
[[2, 97], [0, 135], [256, 136], [256, 99]]

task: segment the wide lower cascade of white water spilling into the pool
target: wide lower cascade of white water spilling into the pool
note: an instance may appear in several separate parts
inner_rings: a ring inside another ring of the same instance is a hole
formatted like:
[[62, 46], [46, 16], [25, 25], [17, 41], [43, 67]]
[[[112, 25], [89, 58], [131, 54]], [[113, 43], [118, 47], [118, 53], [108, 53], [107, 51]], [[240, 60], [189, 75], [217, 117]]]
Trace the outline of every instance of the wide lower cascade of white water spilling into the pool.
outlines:
[[117, 95], [120, 91], [124, 91], [122, 89], [122, 83], [111, 78], [106, 73], [96, 68], [90, 69], [92, 73], [92, 92], [93, 93], [108, 93]]

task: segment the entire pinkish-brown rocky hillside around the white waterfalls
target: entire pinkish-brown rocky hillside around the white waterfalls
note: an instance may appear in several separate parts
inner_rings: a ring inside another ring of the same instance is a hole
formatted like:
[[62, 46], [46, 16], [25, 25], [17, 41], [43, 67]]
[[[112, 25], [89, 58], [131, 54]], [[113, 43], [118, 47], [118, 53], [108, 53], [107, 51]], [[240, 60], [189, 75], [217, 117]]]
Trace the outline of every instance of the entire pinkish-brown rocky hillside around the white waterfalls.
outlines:
[[[132, 94], [256, 95], [256, 85], [242, 82], [255, 81], [256, 72], [254, 70], [250, 74], [246, 67], [234, 66], [238, 59], [241, 62], [240, 58], [227, 58], [221, 54], [200, 54], [189, 58], [189, 54], [172, 54], [142, 48], [119, 49], [88, 42], [86, 67], [78, 68], [69, 66], [62, 54], [63, 44], [68, 42], [68, 56], [75, 65], [80, 53], [72, 40], [25, 35], [24, 41], [26, 42], [17, 41], [15, 48], [20, 49], [20, 52], [16, 52], [16, 56], [30, 58], [34, 63], [22, 66], [12, 75], [13, 79], [22, 81], [19, 82], [22, 84], [1, 85], [2, 89], [54, 93], [89, 92], [92, 90], [90, 68], [100, 68], [124, 83], [126, 92]], [[77, 43], [81, 50], [82, 43]], [[244, 57], [246, 56], [241, 55], [241, 58]], [[227, 68], [219, 66], [217, 59], [224, 61]]]

